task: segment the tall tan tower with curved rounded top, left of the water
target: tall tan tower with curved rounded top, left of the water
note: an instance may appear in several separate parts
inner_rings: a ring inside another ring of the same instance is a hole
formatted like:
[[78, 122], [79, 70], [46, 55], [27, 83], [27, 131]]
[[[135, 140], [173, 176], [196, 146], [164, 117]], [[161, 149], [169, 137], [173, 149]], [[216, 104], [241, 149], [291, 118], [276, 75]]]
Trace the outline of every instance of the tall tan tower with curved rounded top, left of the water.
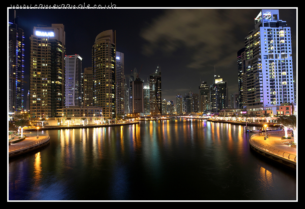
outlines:
[[94, 105], [103, 108], [106, 118], [116, 117], [116, 31], [96, 36], [92, 46]]

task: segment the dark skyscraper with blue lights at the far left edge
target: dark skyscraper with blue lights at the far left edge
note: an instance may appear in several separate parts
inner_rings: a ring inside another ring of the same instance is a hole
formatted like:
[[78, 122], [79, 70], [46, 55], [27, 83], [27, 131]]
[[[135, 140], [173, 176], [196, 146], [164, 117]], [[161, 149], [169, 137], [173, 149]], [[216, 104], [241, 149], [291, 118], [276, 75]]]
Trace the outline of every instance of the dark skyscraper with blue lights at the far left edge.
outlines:
[[9, 20], [9, 112], [23, 110], [24, 33], [18, 27], [18, 18]]

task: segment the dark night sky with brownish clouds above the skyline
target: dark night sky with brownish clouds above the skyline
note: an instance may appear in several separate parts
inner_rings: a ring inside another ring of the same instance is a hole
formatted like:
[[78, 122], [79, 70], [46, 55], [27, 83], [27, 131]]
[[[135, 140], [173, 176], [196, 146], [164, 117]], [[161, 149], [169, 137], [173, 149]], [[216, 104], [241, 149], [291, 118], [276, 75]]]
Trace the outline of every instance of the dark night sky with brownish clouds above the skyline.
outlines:
[[[228, 81], [229, 95], [238, 92], [237, 51], [254, 29], [261, 9], [16, 9], [18, 26], [25, 36], [24, 95], [28, 92], [29, 37], [33, 27], [58, 23], [66, 32], [67, 55], [79, 54], [82, 66], [91, 67], [95, 37], [104, 30], [116, 30], [117, 51], [124, 53], [128, 79], [137, 68], [141, 80], [162, 73], [162, 99], [173, 100], [192, 90], [198, 93], [202, 81], [213, 83], [216, 73]], [[297, 8], [279, 9], [292, 33], [294, 80], [297, 72]], [[13, 19], [13, 9], [8, 9]], [[26, 98], [25, 98], [26, 99]]]

